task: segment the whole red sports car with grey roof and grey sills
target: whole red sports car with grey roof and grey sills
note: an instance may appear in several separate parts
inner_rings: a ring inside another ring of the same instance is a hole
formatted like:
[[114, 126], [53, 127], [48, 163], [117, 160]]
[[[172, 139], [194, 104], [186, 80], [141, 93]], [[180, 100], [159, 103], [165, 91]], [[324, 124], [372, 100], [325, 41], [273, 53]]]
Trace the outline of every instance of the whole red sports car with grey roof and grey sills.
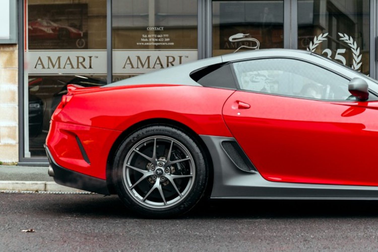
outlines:
[[307, 51], [229, 54], [68, 86], [46, 139], [57, 183], [143, 216], [206, 198], [378, 199], [378, 83]]

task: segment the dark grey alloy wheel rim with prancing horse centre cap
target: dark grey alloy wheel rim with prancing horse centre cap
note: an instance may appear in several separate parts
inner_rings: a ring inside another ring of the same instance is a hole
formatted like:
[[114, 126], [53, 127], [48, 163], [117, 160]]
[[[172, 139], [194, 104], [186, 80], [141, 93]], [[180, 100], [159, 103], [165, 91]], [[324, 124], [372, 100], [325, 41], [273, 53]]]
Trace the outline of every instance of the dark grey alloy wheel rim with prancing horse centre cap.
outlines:
[[122, 175], [134, 201], [153, 209], [166, 209], [191, 192], [195, 162], [180, 141], [168, 136], [150, 136], [130, 148]]

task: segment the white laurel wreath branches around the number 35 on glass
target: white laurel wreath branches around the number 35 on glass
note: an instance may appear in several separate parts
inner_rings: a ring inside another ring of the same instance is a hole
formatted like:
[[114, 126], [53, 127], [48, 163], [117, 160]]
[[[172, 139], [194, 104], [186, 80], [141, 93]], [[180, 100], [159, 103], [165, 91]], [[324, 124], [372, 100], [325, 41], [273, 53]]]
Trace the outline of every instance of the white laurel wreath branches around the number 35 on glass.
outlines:
[[[339, 36], [341, 37], [340, 40], [344, 41], [347, 43], [347, 45], [350, 47], [352, 50], [353, 54], [353, 65], [352, 69], [354, 70], [359, 70], [359, 68], [362, 65], [361, 58], [362, 54], [359, 53], [359, 47], [357, 46], [357, 43], [353, 40], [352, 36], [348, 36], [347, 34], [342, 34], [338, 32]], [[314, 41], [310, 42], [310, 45], [307, 48], [307, 51], [314, 52], [316, 47], [322, 43], [324, 40], [327, 40], [327, 35], [328, 33], [320, 34], [318, 37], [314, 37]]]

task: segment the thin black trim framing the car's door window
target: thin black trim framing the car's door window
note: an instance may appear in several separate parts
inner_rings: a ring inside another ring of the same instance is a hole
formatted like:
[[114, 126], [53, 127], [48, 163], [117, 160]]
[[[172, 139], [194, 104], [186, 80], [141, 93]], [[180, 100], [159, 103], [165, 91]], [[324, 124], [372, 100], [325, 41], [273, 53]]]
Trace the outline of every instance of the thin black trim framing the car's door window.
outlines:
[[[314, 62], [311, 62], [311, 61], [308, 61], [308, 60], [304, 60], [304, 59], [301, 59], [301, 58], [297, 58], [297, 57], [287, 57], [287, 56], [256, 57], [256, 58], [232, 60], [232, 61], [227, 62], [227, 63], [231, 63], [231, 65], [232, 65], [232, 73], [234, 75], [234, 79], [235, 79], [235, 83], [237, 85], [237, 90], [238, 91], [249, 92], [249, 93], [257, 93], [257, 94], [268, 94], [268, 95], [273, 95], [273, 96], [290, 97], [290, 98], [305, 99], [305, 100], [318, 100], [318, 101], [322, 101], [322, 102], [361, 102], [359, 100], [326, 100], [326, 99], [316, 99], [316, 98], [311, 98], [311, 97], [291, 96], [291, 95], [284, 95], [284, 94], [266, 93], [266, 92], [260, 92], [260, 91], [252, 91], [252, 90], [241, 89], [240, 88], [240, 84], [239, 84], [239, 80], [236, 77], [234, 63], [243, 62], [243, 61], [250, 61], [250, 60], [261, 60], [261, 59], [293, 59], [293, 60], [299, 60], [299, 61], [302, 61], [302, 62], [310, 63], [310, 64], [315, 65], [315, 66], [319, 66], [320, 68], [323, 68], [324, 70], [328, 70], [328, 71], [330, 71], [330, 72], [332, 72], [332, 73], [334, 73], [334, 74], [336, 74], [336, 75], [338, 75], [340, 77], [343, 77], [343, 78], [347, 79], [348, 81], [351, 80], [349, 77], [347, 77], [347, 76], [345, 76], [345, 75], [343, 75], [343, 74], [341, 74], [339, 72], [336, 72], [335, 70], [332, 70], [332, 69], [330, 69], [330, 68], [328, 68], [326, 66], [319, 65], [317, 63], [314, 63]], [[369, 88], [369, 93], [372, 94], [375, 99], [370, 99], [371, 96], [369, 96], [369, 99], [365, 100], [363, 102], [378, 101], [378, 94], [377, 93], [375, 93], [370, 88]]]

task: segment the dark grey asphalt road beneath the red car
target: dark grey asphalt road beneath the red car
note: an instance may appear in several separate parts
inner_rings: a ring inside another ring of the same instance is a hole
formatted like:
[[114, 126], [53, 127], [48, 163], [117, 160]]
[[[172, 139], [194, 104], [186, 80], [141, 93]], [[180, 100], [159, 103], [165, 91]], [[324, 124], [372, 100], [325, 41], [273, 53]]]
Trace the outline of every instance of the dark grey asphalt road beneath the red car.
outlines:
[[0, 193], [2, 252], [377, 249], [375, 201], [212, 200], [183, 218], [146, 220], [117, 196]]

